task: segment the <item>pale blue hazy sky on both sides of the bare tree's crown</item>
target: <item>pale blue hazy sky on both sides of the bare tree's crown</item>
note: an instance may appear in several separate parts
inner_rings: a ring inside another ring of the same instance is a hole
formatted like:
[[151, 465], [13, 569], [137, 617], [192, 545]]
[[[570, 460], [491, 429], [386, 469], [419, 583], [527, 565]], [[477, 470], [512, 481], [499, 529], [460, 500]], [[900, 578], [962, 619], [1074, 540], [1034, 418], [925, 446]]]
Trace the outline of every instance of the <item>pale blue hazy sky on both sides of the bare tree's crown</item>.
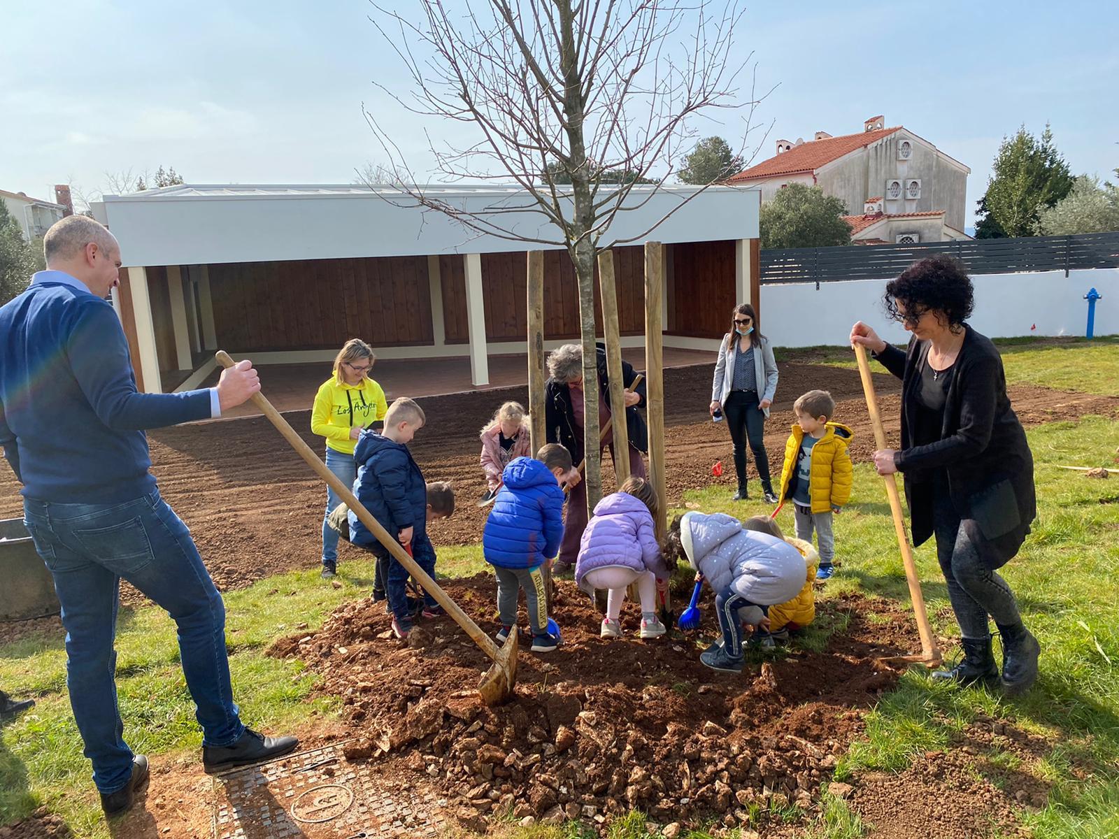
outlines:
[[[393, 0], [383, 0], [392, 6]], [[453, 6], [454, 0], [449, 0]], [[401, 2], [402, 11], [414, 2]], [[1119, 3], [747, 2], [755, 162], [778, 138], [861, 131], [884, 114], [971, 168], [968, 225], [1005, 134], [1051, 123], [1074, 173], [1119, 167]], [[346, 183], [384, 162], [363, 105], [423, 172], [425, 132], [367, 0], [53, 0], [0, 13], [0, 189], [95, 196], [110, 173], [172, 166], [195, 183]], [[408, 12], [411, 13], [411, 12]], [[746, 78], [742, 98], [749, 98]], [[770, 128], [772, 125], [772, 128]], [[741, 145], [742, 112], [703, 119]]]

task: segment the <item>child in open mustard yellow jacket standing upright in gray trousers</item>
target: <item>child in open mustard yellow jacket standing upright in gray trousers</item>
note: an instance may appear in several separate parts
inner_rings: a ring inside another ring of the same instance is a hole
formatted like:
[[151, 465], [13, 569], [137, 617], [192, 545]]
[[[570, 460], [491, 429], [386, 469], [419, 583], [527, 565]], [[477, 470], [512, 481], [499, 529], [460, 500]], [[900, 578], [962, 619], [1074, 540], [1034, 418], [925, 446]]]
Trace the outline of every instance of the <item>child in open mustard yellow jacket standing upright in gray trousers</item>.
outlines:
[[827, 390], [809, 390], [792, 409], [797, 424], [784, 445], [779, 494], [782, 500], [792, 499], [797, 538], [811, 544], [816, 531], [820, 552], [816, 578], [828, 579], [835, 573], [831, 517], [850, 500], [854, 470], [847, 446], [852, 433], [831, 421], [836, 403]]

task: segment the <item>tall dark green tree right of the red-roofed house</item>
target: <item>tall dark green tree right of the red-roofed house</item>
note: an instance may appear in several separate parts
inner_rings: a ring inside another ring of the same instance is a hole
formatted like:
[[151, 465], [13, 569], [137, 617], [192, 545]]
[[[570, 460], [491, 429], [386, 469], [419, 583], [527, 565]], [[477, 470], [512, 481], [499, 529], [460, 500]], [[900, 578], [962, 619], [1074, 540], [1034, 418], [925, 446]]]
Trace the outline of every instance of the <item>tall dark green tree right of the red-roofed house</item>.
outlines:
[[1021, 126], [1003, 138], [995, 155], [995, 172], [979, 199], [976, 238], [1035, 235], [1042, 210], [1069, 195], [1072, 181], [1049, 124], [1041, 140]]

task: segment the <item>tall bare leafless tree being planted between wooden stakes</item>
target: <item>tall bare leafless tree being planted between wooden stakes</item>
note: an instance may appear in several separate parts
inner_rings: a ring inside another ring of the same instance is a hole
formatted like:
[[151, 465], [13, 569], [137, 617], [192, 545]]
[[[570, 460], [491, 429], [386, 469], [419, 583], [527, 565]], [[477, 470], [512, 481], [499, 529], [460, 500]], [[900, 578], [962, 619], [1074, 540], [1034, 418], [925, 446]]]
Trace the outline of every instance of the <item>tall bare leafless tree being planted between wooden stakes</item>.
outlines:
[[[595, 383], [596, 252], [646, 238], [667, 216], [634, 236], [604, 242], [611, 224], [661, 190], [677, 148], [690, 147], [696, 135], [693, 117], [743, 107], [752, 114], [759, 102], [753, 91], [740, 100], [751, 56], [733, 49], [739, 0], [462, 0], [454, 11], [443, 0], [420, 0], [417, 20], [370, 2], [378, 12], [370, 19], [399, 56], [412, 91], [378, 86], [408, 111], [440, 117], [441, 131], [454, 122], [477, 131], [462, 145], [429, 135], [441, 178], [511, 178], [523, 191], [466, 211], [439, 190], [414, 186], [391, 126], [366, 110], [395, 182], [412, 201], [478, 235], [565, 247], [579, 281], [583, 380]], [[741, 135], [749, 133], [746, 116]], [[638, 186], [650, 176], [655, 183]], [[542, 214], [552, 228], [535, 236], [514, 229], [510, 219], [526, 211]], [[584, 394], [593, 508], [602, 491], [599, 389], [591, 385]]]

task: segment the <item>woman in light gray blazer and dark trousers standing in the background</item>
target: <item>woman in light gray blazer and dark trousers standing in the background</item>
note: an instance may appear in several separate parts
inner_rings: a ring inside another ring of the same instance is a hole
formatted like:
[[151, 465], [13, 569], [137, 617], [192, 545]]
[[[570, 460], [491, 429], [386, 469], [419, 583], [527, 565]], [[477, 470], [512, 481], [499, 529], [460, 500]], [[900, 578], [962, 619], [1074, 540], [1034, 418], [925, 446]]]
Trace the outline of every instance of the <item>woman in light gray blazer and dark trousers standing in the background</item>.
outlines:
[[769, 458], [765, 456], [765, 418], [777, 392], [777, 361], [769, 339], [761, 333], [758, 314], [750, 303], [732, 313], [732, 331], [723, 336], [715, 362], [715, 380], [711, 386], [711, 415], [726, 416], [726, 426], [734, 443], [734, 471], [739, 475], [735, 501], [746, 499], [746, 442], [754, 453], [754, 465], [762, 482], [767, 503], [777, 503], [770, 481]]

